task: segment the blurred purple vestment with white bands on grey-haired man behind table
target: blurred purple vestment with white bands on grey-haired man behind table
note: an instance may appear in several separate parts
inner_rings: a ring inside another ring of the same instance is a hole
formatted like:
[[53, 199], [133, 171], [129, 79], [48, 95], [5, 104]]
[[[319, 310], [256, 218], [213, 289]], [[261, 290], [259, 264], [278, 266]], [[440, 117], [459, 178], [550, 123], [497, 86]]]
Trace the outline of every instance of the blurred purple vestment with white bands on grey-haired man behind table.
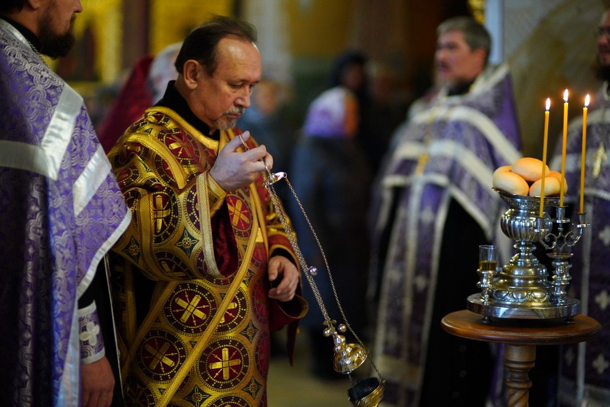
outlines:
[[[520, 157], [508, 70], [481, 74], [463, 96], [439, 95], [395, 137], [375, 203], [373, 255], [383, 268], [373, 358], [387, 380], [383, 405], [417, 406], [430, 326], [440, 323], [431, 315], [434, 301], [443, 300], [434, 292], [442, 283], [439, 258], [450, 202], [456, 201], [490, 240], [506, 210], [492, 190], [492, 174]], [[379, 247], [387, 229], [388, 246]], [[468, 232], [463, 231], [464, 239]]]

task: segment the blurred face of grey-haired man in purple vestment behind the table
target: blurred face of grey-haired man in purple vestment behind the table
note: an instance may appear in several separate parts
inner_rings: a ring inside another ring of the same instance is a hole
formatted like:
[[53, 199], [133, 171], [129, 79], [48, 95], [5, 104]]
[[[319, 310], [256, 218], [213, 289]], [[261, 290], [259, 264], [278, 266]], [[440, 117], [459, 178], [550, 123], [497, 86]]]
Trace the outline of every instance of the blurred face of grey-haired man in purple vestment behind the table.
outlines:
[[483, 71], [485, 52], [470, 49], [464, 33], [448, 31], [439, 37], [434, 54], [438, 79], [450, 88], [472, 82]]

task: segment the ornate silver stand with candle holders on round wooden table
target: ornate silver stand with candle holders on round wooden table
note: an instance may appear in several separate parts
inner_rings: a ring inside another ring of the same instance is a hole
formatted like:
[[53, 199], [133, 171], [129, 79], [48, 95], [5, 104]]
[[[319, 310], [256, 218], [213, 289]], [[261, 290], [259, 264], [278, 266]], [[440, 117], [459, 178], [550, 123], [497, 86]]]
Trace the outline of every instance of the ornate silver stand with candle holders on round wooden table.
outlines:
[[[539, 217], [538, 196], [513, 195], [497, 190], [508, 204], [500, 226], [504, 234], [515, 241], [517, 253], [501, 270], [481, 270], [478, 273], [480, 293], [470, 295], [467, 309], [490, 317], [515, 319], [568, 318], [580, 313], [580, 301], [567, 295], [570, 283], [572, 247], [590, 226], [585, 222], [586, 214], [576, 214], [576, 222], [570, 226], [565, 218], [565, 206], [558, 206], [557, 196], [544, 200], [543, 217]], [[548, 212], [555, 208], [555, 217]], [[555, 227], [553, 227], [555, 225]], [[565, 230], [567, 226], [567, 230]], [[556, 233], [552, 231], [556, 229]], [[547, 250], [554, 270], [549, 278], [547, 268], [534, 256], [534, 243], [539, 242]]]

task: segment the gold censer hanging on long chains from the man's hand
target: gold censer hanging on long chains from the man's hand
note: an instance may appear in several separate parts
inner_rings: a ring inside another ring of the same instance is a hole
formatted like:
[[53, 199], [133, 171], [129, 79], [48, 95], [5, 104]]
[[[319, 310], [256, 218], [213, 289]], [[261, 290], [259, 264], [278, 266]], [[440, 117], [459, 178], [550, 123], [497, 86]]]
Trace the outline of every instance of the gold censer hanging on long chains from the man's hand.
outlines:
[[[241, 134], [239, 135], [239, 137], [240, 137], [240, 139], [242, 139]], [[243, 139], [242, 139], [242, 144], [247, 151], [249, 148], [246, 145], [246, 143], [243, 141]], [[311, 222], [309, 221], [309, 217], [307, 217], [307, 214], [303, 208], [303, 205], [301, 204], [301, 201], [299, 200], [298, 196], [296, 196], [296, 192], [293, 189], [292, 184], [290, 184], [290, 181], [288, 181], [287, 174], [284, 172], [271, 173], [269, 168], [267, 168], [267, 165], [265, 165], [265, 169], [267, 170], [267, 173], [262, 173], [265, 189], [269, 193], [271, 202], [273, 203], [273, 206], [275, 207], [276, 213], [278, 214], [278, 218], [279, 218], [280, 222], [282, 223], [282, 227], [284, 228], [284, 231], [286, 232], [286, 236], [288, 237], [290, 246], [292, 247], [292, 250], [294, 251], [294, 253], [296, 255], [296, 259], [301, 267], [301, 270], [303, 270], [303, 272], [304, 272], [305, 278], [307, 279], [307, 283], [309, 283], [309, 286], [311, 287], [312, 291], [314, 292], [315, 300], [318, 303], [318, 306], [320, 307], [320, 311], [322, 312], [322, 315], [324, 318], [323, 325], [325, 325], [325, 327], [326, 327], [323, 330], [323, 334], [326, 337], [332, 338], [332, 343], [334, 345], [334, 348], [333, 348], [334, 360], [333, 360], [332, 367], [336, 372], [346, 374], [350, 378], [350, 383], [352, 386], [350, 387], [350, 389], [348, 389], [348, 396], [350, 398], [350, 402], [354, 406], [356, 406], [356, 407], [376, 407], [379, 405], [379, 403], [381, 403], [381, 400], [383, 398], [384, 386], [385, 386], [386, 381], [383, 380], [383, 378], [381, 377], [381, 373], [379, 373], [379, 370], [375, 366], [375, 363], [371, 360], [370, 356], [368, 355], [367, 348], [365, 348], [364, 344], [362, 344], [362, 340], [359, 339], [357, 334], [354, 332], [354, 330], [351, 328], [350, 324], [348, 323], [347, 318], [345, 317], [343, 308], [341, 307], [341, 304], [339, 303], [339, 297], [338, 297], [337, 291], [335, 289], [334, 281], [332, 280], [332, 275], [330, 272], [328, 261], [326, 259], [326, 254], [324, 253], [324, 250], [322, 249], [320, 240], [318, 239], [318, 236], [317, 236]], [[324, 264], [326, 266], [326, 270], [328, 270], [328, 277], [331, 281], [332, 293], [334, 294], [334, 299], [337, 303], [337, 306], [339, 307], [339, 312], [341, 314], [341, 317], [343, 318], [344, 323], [337, 324], [337, 321], [334, 319], [331, 319], [331, 317], [328, 315], [328, 311], [326, 311], [326, 306], [324, 305], [324, 302], [320, 295], [320, 290], [318, 290], [318, 287], [315, 284], [315, 280], [314, 280], [315, 276], [318, 274], [318, 270], [314, 266], [307, 265], [307, 262], [303, 256], [303, 253], [301, 252], [301, 249], [298, 247], [298, 244], [296, 243], [295, 234], [293, 234], [293, 232], [292, 232], [292, 227], [290, 226], [290, 223], [288, 221], [288, 218], [286, 217], [282, 204], [279, 201], [278, 195], [276, 194], [275, 189], [273, 187], [273, 184], [275, 182], [278, 182], [281, 179], [284, 179], [284, 181], [290, 188], [290, 192], [292, 192], [292, 196], [294, 197], [296, 203], [300, 207], [301, 214], [303, 214], [303, 216], [307, 222], [307, 225], [309, 225], [309, 229], [315, 238], [315, 241], [318, 245], [318, 249], [320, 250]], [[352, 344], [346, 343], [345, 336], [343, 336], [342, 334], [346, 333], [346, 331], [348, 331], [348, 330], [356, 339], [356, 343], [352, 343]], [[373, 369], [375, 369], [375, 372], [377, 373], [378, 377], [370, 377], [370, 378], [367, 378], [364, 380], [358, 380], [358, 381], [356, 381], [356, 383], [354, 383], [354, 379], [351, 376], [351, 373], [354, 372], [354, 370], [356, 370], [358, 367], [362, 366], [362, 364], [365, 362], [365, 360], [367, 358], [369, 359], [371, 366], [373, 366]]]

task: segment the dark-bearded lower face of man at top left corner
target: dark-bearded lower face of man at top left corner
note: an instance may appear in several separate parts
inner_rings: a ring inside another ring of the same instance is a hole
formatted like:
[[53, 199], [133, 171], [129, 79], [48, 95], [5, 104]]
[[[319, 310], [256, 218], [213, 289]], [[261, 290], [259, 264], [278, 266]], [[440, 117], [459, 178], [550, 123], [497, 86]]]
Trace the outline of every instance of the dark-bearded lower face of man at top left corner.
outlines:
[[74, 45], [72, 29], [76, 13], [82, 12], [80, 0], [46, 0], [38, 20], [40, 52], [49, 57], [63, 57]]

